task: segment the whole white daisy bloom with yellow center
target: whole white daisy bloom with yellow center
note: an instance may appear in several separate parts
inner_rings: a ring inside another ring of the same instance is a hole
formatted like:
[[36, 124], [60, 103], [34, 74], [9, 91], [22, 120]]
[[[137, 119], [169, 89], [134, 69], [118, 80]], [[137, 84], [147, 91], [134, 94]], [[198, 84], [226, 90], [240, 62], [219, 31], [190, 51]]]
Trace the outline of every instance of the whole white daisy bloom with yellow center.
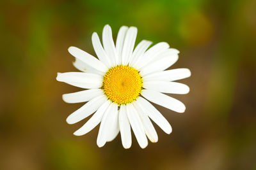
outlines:
[[84, 135], [100, 124], [99, 147], [115, 139], [120, 132], [122, 145], [130, 148], [131, 128], [141, 148], [148, 145], [147, 138], [156, 143], [158, 137], [150, 119], [170, 134], [171, 125], [150, 102], [179, 113], [186, 109], [177, 99], [163, 94], [189, 92], [187, 85], [173, 82], [189, 77], [189, 69], [164, 71], [178, 60], [179, 51], [165, 42], [148, 49], [152, 42], [147, 40], [142, 40], [134, 49], [136, 35], [136, 27], [122, 26], [115, 44], [111, 27], [106, 25], [102, 33], [103, 46], [98, 34], [92, 34], [93, 48], [99, 59], [70, 46], [68, 52], [76, 57], [74, 66], [83, 72], [58, 73], [57, 76], [58, 81], [88, 89], [63, 94], [67, 103], [87, 102], [68, 116], [67, 123], [75, 124], [94, 113], [74, 135]]

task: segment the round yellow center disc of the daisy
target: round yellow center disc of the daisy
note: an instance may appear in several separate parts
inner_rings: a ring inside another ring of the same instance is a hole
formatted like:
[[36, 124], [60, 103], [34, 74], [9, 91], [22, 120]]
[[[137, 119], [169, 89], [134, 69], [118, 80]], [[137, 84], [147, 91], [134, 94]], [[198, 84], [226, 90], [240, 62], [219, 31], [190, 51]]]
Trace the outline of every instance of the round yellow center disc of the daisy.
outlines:
[[140, 95], [142, 78], [129, 66], [116, 66], [105, 74], [102, 89], [106, 96], [117, 104], [131, 103]]

